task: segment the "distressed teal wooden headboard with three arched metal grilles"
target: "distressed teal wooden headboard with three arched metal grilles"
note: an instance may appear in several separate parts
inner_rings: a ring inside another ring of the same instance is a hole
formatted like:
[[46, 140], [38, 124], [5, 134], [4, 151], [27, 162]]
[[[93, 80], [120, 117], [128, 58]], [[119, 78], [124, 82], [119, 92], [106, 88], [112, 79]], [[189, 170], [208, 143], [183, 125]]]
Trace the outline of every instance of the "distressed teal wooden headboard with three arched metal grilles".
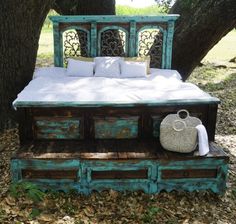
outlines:
[[171, 68], [174, 23], [179, 15], [52, 16], [54, 64], [85, 56], [147, 56], [151, 67]]

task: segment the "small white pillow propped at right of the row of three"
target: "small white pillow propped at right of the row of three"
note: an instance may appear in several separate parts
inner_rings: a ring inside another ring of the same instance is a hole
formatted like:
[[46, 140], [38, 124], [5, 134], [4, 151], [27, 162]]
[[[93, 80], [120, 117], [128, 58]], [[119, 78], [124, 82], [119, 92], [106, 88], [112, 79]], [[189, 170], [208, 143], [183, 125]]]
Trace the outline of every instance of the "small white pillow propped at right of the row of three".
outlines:
[[139, 78], [146, 77], [147, 64], [146, 62], [136, 61], [121, 61], [121, 78]]

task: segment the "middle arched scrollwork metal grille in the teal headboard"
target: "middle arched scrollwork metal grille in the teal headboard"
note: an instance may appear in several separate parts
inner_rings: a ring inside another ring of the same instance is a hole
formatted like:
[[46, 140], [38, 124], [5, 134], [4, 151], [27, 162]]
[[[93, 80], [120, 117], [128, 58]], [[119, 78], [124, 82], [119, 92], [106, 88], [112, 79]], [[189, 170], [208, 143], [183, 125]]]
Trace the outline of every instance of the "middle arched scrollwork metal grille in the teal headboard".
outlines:
[[126, 33], [122, 30], [106, 30], [101, 33], [101, 56], [125, 56]]

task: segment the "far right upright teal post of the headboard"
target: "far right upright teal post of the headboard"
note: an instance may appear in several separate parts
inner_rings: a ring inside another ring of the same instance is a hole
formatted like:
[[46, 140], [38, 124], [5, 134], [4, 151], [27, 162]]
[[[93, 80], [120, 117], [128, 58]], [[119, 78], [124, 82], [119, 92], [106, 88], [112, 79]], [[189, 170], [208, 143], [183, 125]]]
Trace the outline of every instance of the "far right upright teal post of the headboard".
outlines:
[[175, 24], [174, 20], [168, 21], [167, 44], [166, 44], [166, 64], [165, 64], [166, 69], [171, 69], [174, 24]]

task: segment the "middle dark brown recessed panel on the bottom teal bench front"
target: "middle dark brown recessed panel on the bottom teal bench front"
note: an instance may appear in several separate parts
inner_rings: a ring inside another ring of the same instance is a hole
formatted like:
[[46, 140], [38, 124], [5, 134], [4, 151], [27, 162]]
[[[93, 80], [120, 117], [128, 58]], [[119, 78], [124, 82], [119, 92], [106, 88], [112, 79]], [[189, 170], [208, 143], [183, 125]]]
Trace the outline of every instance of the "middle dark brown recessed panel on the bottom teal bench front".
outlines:
[[92, 180], [112, 180], [112, 179], [148, 179], [148, 170], [109, 170], [92, 171]]

